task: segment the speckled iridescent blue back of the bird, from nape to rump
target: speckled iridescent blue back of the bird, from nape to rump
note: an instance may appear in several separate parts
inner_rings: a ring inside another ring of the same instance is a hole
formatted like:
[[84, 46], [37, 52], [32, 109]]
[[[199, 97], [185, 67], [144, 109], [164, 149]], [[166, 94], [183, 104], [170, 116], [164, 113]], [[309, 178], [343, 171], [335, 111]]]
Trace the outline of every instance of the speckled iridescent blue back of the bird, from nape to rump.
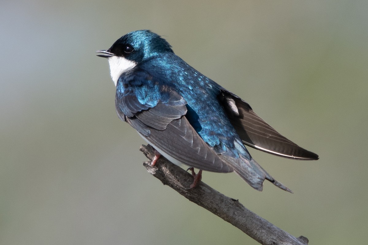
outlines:
[[[185, 67], [185, 69], [184, 69]], [[217, 101], [221, 87], [174, 53], [163, 53], [142, 63], [159, 87], [171, 87], [187, 101], [185, 115], [197, 133], [217, 154], [251, 159], [236, 130]], [[159, 93], [160, 94], [160, 93]], [[164, 94], [160, 94], [163, 96]], [[151, 98], [150, 98], [151, 100]], [[236, 142], [234, 144], [234, 142]]]

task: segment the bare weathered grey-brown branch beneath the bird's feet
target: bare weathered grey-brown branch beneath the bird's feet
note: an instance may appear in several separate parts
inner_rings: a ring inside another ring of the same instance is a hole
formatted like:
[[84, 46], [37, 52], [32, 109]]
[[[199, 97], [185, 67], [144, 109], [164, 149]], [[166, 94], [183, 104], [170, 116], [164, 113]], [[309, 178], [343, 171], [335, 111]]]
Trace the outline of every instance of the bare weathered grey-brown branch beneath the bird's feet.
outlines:
[[[151, 145], [142, 145], [140, 150], [152, 161], [155, 154]], [[144, 162], [143, 165], [164, 185], [170, 186], [185, 198], [236, 226], [259, 243], [263, 245], [308, 244], [306, 237], [296, 238], [290, 235], [245, 208], [238, 200], [226, 197], [202, 181], [197, 187], [186, 190], [193, 182], [192, 175], [166, 158], [161, 157], [154, 167], [151, 166], [151, 161]]]

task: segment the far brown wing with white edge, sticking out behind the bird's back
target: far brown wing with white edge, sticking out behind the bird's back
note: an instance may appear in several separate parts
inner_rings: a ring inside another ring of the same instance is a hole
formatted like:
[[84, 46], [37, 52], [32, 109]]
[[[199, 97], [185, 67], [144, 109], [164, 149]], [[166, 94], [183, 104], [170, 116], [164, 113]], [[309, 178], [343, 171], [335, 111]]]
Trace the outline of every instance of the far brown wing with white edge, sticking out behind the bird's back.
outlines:
[[278, 133], [254, 113], [250, 105], [235, 94], [222, 90], [221, 101], [243, 143], [250, 147], [300, 160], [318, 159], [318, 155], [301, 148]]

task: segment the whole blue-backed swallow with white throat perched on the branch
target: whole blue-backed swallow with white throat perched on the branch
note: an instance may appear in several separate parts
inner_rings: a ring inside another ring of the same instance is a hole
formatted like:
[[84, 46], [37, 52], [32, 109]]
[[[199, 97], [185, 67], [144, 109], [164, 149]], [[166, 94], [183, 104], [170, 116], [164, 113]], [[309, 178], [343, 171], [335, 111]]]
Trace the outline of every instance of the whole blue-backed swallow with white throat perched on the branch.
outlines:
[[[96, 53], [109, 62], [118, 117], [156, 149], [152, 165], [163, 155], [176, 165], [189, 166], [194, 176], [190, 188], [204, 170], [235, 172], [258, 191], [268, 180], [292, 193], [252, 158], [245, 145], [285, 158], [319, 158], [278, 133], [236, 94], [187, 64], [151, 30], [127, 33]], [[194, 168], [199, 169], [197, 174]]]

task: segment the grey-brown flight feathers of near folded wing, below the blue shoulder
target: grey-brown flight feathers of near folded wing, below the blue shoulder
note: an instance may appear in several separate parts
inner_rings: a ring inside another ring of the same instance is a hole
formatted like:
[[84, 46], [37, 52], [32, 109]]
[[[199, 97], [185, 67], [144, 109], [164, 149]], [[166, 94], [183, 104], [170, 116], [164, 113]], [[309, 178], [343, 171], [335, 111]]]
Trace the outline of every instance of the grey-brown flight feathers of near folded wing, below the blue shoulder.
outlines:
[[[165, 152], [178, 162], [212, 172], [233, 172], [233, 168], [217, 156], [185, 118], [187, 102], [176, 91], [163, 93], [169, 93], [169, 96], [163, 96], [169, 97], [167, 101], [159, 101], [155, 107], [138, 111], [125, 120], [159, 152]], [[120, 103], [124, 101], [119, 100]], [[133, 101], [134, 104], [129, 104], [130, 109], [139, 108], [138, 100]], [[123, 114], [118, 105], [117, 113]]]

